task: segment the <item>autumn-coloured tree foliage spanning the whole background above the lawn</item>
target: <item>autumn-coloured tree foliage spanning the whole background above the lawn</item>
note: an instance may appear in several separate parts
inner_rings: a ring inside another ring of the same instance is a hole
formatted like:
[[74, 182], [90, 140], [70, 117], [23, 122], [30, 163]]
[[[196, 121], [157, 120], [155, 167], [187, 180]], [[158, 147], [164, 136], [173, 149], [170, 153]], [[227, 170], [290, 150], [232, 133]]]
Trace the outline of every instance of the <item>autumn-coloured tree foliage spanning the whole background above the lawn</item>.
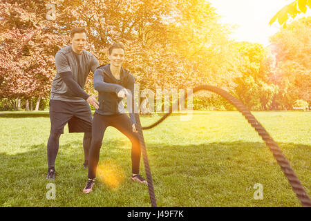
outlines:
[[[47, 3], [55, 5], [55, 20], [46, 17]], [[252, 110], [290, 108], [296, 99], [310, 103], [308, 18], [280, 30], [265, 48], [229, 40], [233, 28], [220, 23], [204, 0], [0, 0], [0, 17], [0, 99], [42, 97], [48, 102], [55, 53], [70, 44], [70, 29], [81, 26], [88, 30], [87, 50], [100, 64], [108, 62], [111, 43], [124, 43], [124, 67], [141, 90], [210, 84]], [[97, 93], [92, 75], [85, 90]], [[215, 96], [202, 99], [196, 99], [196, 108], [208, 108], [210, 102], [232, 109]]]

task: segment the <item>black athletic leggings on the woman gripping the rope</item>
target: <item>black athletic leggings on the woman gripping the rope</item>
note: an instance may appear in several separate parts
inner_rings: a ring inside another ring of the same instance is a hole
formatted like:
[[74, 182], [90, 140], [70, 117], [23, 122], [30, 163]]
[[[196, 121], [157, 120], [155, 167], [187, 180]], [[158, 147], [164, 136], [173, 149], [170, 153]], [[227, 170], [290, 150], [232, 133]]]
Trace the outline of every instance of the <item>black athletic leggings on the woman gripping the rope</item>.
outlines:
[[131, 140], [132, 173], [138, 174], [140, 172], [140, 142], [138, 133], [133, 132], [129, 116], [125, 113], [120, 115], [99, 115], [95, 113], [92, 125], [92, 142], [88, 155], [88, 178], [94, 179], [96, 177], [97, 164], [100, 160], [100, 147], [108, 126], [117, 128]]

